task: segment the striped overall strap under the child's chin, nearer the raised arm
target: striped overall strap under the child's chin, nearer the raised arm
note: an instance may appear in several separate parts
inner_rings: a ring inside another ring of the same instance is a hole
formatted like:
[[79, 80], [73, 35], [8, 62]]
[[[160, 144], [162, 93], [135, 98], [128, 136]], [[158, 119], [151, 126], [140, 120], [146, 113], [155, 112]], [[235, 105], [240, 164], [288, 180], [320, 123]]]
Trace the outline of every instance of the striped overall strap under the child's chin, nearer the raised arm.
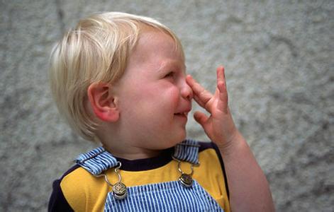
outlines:
[[173, 158], [192, 164], [199, 164], [199, 146], [197, 141], [184, 140], [175, 146]]

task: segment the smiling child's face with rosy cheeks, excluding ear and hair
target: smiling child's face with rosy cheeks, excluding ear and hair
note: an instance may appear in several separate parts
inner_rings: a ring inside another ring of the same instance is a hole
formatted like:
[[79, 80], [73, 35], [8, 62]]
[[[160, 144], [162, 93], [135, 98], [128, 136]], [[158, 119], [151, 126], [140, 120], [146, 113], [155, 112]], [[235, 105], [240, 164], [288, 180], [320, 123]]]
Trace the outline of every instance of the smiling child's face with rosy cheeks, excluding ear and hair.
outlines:
[[116, 83], [126, 146], [157, 151], [185, 139], [193, 96], [185, 77], [184, 59], [172, 37], [157, 30], [140, 36]]

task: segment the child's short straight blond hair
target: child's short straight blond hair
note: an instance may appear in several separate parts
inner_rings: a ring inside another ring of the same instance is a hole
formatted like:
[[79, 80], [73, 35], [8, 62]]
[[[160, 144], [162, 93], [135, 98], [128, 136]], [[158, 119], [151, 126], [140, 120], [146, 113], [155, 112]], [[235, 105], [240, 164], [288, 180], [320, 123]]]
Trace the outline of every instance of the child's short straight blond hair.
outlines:
[[126, 69], [131, 50], [143, 28], [149, 26], [170, 35], [184, 57], [174, 33], [157, 20], [128, 13], [98, 13], [79, 20], [52, 49], [50, 86], [57, 108], [84, 139], [94, 141], [98, 124], [84, 102], [91, 83], [115, 83]]

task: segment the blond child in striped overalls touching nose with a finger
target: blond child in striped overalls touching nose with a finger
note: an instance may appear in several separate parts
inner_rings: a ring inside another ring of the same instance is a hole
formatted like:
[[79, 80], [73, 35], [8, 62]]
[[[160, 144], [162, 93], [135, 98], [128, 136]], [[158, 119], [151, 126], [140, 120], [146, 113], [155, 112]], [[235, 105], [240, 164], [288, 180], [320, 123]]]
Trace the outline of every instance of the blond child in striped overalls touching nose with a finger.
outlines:
[[[55, 46], [57, 107], [100, 148], [53, 183], [49, 211], [274, 211], [267, 179], [228, 109], [223, 66], [212, 95], [186, 75], [182, 45], [157, 20], [99, 13]], [[194, 118], [211, 139], [186, 139]]]

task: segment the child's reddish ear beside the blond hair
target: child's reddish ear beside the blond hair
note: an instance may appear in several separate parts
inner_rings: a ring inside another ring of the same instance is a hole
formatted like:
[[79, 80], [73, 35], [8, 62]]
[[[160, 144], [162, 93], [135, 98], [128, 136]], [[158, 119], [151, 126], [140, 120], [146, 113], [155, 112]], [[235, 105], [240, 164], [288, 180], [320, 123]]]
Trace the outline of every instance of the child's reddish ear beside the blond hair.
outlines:
[[104, 122], [116, 122], [119, 110], [111, 85], [108, 83], [92, 83], [87, 90], [88, 100], [94, 114]]

